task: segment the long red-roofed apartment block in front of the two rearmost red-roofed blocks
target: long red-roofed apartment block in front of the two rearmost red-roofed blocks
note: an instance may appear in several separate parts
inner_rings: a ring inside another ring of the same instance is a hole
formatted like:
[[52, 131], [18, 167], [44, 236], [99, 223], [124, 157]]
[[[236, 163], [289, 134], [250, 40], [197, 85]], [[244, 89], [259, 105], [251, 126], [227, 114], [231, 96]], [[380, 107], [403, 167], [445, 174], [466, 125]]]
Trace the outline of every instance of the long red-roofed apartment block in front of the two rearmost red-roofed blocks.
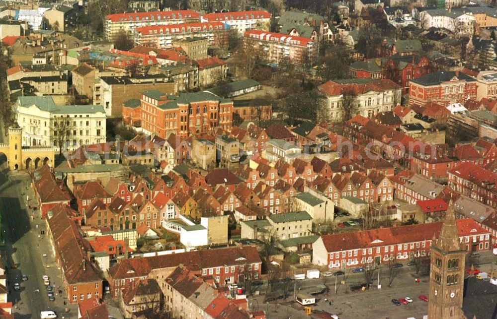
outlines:
[[208, 38], [211, 47], [227, 47], [229, 26], [223, 22], [193, 22], [174, 25], [150, 25], [135, 28], [137, 45], [152, 48], [171, 48], [173, 40], [192, 37]]

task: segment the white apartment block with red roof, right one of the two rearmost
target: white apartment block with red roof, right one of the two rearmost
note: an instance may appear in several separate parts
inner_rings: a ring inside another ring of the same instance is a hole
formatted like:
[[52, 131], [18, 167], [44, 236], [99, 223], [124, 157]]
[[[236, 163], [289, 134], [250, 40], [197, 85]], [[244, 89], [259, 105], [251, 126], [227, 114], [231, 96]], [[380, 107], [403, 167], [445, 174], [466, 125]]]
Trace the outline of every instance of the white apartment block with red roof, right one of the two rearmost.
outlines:
[[213, 12], [201, 16], [202, 22], [222, 22], [243, 36], [248, 30], [269, 31], [271, 13], [262, 10]]

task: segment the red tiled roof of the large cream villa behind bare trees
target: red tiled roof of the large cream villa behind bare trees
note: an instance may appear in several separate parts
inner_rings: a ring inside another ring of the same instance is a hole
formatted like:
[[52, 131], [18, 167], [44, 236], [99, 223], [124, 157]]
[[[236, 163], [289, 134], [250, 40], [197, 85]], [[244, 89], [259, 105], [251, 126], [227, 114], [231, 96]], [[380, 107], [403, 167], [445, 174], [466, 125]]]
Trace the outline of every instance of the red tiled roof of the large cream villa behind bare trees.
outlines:
[[318, 89], [328, 96], [337, 96], [344, 92], [353, 91], [356, 94], [364, 94], [370, 91], [384, 92], [391, 89], [401, 88], [398, 84], [389, 79], [373, 80], [368, 83], [346, 83], [341, 84], [333, 81], [328, 81], [320, 86]]

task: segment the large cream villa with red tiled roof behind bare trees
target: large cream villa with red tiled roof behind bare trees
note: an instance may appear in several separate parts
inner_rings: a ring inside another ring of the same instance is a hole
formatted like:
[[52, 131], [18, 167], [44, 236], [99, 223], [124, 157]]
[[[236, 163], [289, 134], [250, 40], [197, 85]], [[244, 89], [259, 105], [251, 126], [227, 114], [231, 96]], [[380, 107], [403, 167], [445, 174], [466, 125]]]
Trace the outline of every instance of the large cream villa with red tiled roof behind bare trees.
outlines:
[[[401, 102], [402, 87], [389, 79], [348, 79], [328, 81], [318, 87], [326, 97], [333, 122], [343, 118], [343, 96], [354, 94], [356, 114], [374, 118], [381, 112], [392, 111]], [[356, 115], [352, 114], [352, 115]]]

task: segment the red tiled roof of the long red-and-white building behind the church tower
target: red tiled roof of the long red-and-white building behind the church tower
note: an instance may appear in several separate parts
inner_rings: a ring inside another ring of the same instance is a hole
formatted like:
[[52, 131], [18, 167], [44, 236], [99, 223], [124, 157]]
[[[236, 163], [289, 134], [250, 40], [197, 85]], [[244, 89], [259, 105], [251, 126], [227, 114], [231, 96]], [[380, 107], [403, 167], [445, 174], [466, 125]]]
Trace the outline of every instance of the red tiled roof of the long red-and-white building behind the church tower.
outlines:
[[[489, 231], [470, 218], [457, 219], [459, 236], [483, 235]], [[413, 243], [431, 240], [438, 237], [442, 223], [426, 223], [409, 226], [379, 228], [359, 232], [345, 232], [340, 234], [321, 236], [327, 252], [340, 252], [352, 249], [364, 249]], [[473, 231], [472, 230], [476, 230]]]

